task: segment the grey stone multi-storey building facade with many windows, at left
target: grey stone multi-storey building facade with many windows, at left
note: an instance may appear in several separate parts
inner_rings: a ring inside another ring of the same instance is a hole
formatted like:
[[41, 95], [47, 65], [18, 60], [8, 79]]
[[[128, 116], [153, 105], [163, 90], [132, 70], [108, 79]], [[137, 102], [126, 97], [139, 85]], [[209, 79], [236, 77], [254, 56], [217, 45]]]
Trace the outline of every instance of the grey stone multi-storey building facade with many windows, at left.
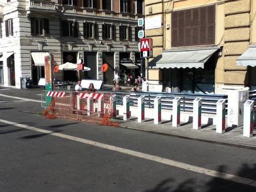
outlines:
[[[106, 84], [116, 72], [139, 68], [136, 32], [137, 19], [144, 15], [142, 0], [1, 0], [0, 6], [0, 85], [20, 88], [21, 77], [37, 85], [49, 54], [55, 65], [83, 59], [91, 71], [82, 77]], [[124, 60], [131, 62], [129, 69]], [[104, 63], [109, 67], [103, 73]], [[56, 80], [76, 81], [76, 71], [59, 71]]]

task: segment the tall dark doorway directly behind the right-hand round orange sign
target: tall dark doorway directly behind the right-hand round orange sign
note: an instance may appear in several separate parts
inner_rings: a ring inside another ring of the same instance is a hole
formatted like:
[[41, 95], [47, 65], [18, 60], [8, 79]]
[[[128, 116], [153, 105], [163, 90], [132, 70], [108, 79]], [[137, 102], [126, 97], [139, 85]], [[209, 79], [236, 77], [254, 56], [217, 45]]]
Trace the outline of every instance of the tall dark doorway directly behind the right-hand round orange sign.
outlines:
[[104, 72], [104, 84], [112, 85], [115, 71], [114, 52], [103, 52], [102, 61], [102, 64], [107, 63], [107, 65], [109, 66], [107, 71]]

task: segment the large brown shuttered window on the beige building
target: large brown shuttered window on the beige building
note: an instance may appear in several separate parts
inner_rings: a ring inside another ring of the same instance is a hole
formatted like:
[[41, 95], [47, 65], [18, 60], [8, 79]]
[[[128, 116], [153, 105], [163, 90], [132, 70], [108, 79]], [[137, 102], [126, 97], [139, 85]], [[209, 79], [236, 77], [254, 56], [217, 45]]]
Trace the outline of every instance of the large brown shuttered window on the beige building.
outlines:
[[171, 17], [171, 46], [215, 44], [215, 6], [176, 11]]

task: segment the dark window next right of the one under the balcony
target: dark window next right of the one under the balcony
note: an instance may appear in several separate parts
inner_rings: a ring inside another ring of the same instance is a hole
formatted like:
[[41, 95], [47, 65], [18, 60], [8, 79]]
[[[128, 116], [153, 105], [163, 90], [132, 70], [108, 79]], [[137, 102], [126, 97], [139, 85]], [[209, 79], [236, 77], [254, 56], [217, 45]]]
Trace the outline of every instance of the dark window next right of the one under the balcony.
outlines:
[[78, 23], [72, 21], [62, 21], [63, 37], [78, 37]]

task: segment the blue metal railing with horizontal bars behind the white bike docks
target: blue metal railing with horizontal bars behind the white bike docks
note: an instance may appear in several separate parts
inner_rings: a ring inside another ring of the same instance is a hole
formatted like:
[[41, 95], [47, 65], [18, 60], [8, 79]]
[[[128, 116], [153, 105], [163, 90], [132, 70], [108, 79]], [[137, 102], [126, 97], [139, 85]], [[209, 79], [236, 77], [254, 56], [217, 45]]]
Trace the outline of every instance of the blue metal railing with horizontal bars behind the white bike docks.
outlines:
[[[216, 114], [216, 102], [219, 99], [226, 101], [226, 110], [228, 107], [227, 95], [211, 95], [211, 94], [184, 94], [184, 93], [163, 93], [163, 92], [129, 92], [129, 91], [104, 91], [113, 93], [116, 95], [116, 104], [122, 105], [122, 98], [125, 95], [130, 95], [130, 106], [137, 106], [137, 99], [140, 96], [145, 96], [145, 107], [154, 108], [154, 99], [157, 96], [161, 96], [161, 109], [173, 110], [173, 100], [175, 97], [181, 97], [180, 99], [180, 111], [193, 112], [193, 100], [196, 97], [202, 99], [202, 114]], [[256, 94], [256, 93], [255, 93]]]

